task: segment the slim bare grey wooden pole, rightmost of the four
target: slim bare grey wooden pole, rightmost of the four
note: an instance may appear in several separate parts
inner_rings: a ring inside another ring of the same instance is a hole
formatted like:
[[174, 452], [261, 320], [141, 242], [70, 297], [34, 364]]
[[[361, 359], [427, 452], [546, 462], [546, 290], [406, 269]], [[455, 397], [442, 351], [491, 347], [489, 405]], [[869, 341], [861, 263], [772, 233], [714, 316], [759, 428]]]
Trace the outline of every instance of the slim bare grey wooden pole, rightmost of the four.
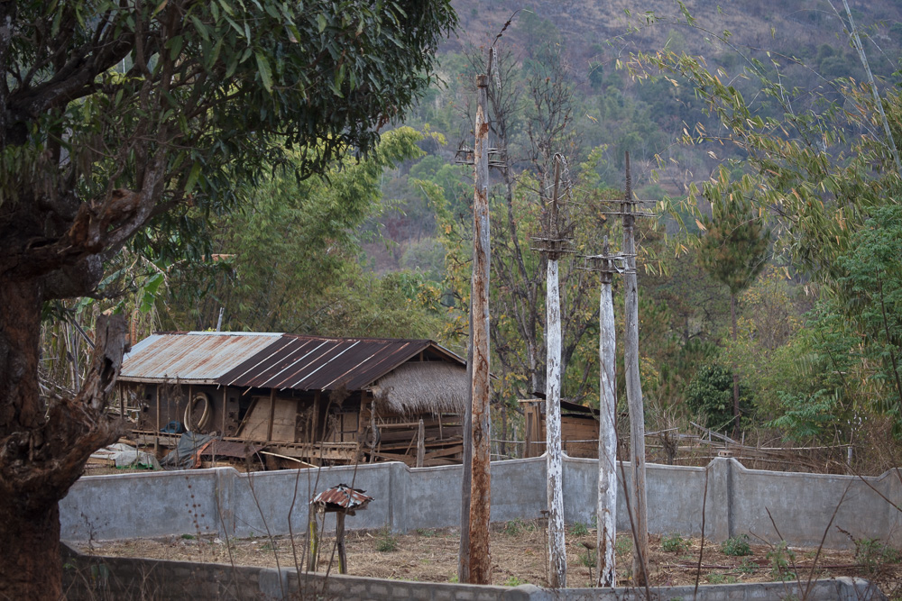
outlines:
[[624, 336], [623, 362], [626, 374], [626, 397], [630, 407], [630, 463], [632, 464], [633, 552], [632, 574], [639, 586], [648, 582], [646, 566], [649, 559], [649, 522], [645, 494], [645, 408], [642, 403], [642, 385], [639, 373], [639, 285], [636, 278], [636, 238], [633, 214], [630, 153], [626, 153], [626, 197], [621, 205], [623, 213], [623, 254], [626, 258], [626, 332]]

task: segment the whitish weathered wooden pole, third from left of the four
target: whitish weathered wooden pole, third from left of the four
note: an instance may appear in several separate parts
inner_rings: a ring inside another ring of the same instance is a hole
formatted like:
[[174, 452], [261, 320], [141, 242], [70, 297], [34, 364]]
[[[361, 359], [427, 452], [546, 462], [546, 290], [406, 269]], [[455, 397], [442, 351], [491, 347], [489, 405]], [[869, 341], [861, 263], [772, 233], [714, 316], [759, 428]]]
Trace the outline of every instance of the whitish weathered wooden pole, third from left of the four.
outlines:
[[598, 505], [596, 519], [598, 539], [596, 563], [598, 587], [613, 587], [617, 583], [614, 543], [617, 542], [617, 333], [614, 325], [612, 293], [613, 264], [610, 259], [608, 237], [602, 248], [601, 280], [598, 316], [601, 332], [598, 340], [600, 383], [598, 402]]

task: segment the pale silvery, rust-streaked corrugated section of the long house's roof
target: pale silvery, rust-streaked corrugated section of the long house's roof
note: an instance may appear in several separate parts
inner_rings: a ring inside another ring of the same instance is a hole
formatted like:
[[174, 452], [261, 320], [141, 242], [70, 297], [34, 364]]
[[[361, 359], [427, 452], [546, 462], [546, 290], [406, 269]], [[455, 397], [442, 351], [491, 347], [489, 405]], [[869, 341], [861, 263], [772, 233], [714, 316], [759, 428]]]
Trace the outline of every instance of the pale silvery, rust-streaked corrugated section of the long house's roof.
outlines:
[[217, 378], [279, 340], [281, 333], [157, 333], [135, 344], [124, 356], [119, 379], [216, 384]]

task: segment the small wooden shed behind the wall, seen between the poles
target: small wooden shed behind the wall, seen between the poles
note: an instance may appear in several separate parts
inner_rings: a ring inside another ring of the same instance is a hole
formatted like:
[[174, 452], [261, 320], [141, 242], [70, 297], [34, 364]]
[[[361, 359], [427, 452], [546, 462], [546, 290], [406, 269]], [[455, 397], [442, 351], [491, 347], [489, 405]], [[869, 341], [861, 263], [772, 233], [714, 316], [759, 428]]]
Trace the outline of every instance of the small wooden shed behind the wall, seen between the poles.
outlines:
[[[526, 423], [523, 457], [545, 452], [545, 399], [520, 401]], [[570, 457], [598, 457], [598, 410], [561, 400], [561, 448]]]

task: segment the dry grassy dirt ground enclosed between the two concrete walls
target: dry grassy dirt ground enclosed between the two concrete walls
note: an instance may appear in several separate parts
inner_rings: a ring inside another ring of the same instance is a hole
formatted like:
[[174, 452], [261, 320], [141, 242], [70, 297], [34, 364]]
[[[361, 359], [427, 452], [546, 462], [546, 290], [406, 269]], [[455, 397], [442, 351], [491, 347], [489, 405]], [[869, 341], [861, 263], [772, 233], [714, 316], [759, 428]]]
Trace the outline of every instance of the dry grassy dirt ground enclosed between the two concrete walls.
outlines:
[[[582, 524], [568, 526], [566, 535], [567, 584], [591, 587], [595, 575], [595, 531]], [[517, 586], [530, 583], [546, 586], [547, 551], [545, 526], [541, 522], [515, 520], [493, 527], [492, 583]], [[458, 535], [454, 531], [420, 530], [407, 535], [386, 532], [349, 532], [346, 537], [348, 573], [373, 578], [396, 578], [423, 582], [456, 582]], [[267, 537], [221, 541], [185, 533], [164, 539], [93, 542], [82, 551], [97, 555], [132, 556], [166, 560], [213, 561], [235, 565], [281, 567], [305, 563], [302, 537], [292, 545], [289, 537]], [[858, 576], [868, 578], [891, 599], [902, 599], [900, 553], [879, 542], [860, 542], [857, 551], [784, 548], [756, 541], [737, 540], [727, 554], [723, 545], [705, 542], [701, 561], [701, 540], [678, 535], [651, 536], [649, 573], [652, 586], [724, 584], [795, 579]], [[335, 539], [321, 540], [319, 571], [329, 569]], [[619, 586], [630, 586], [631, 541], [617, 539]], [[699, 565], [701, 566], [699, 568]], [[337, 570], [337, 560], [333, 564]]]

